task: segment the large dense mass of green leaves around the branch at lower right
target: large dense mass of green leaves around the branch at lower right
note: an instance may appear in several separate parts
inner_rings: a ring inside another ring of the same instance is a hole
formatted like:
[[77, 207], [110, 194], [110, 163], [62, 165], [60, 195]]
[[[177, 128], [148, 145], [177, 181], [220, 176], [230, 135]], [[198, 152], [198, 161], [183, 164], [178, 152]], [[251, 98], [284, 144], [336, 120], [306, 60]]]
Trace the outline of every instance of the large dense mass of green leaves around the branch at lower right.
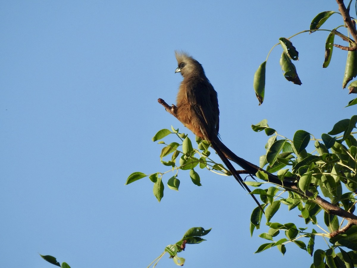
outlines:
[[[265, 204], [268, 231], [259, 236], [270, 240], [262, 244], [256, 253], [276, 246], [285, 254], [285, 245], [293, 243], [314, 256], [312, 267], [354, 267], [357, 263], [357, 236], [353, 230], [356, 232], [357, 227], [352, 226], [347, 232], [332, 237], [331, 233], [341, 230], [344, 219], [340, 220], [337, 215], [322, 209], [315, 198], [324, 196], [333, 205], [354, 212], [357, 202], [357, 140], [353, 129], [356, 122], [356, 115], [340, 120], [331, 131], [322, 134], [321, 139], [316, 139], [305, 130], [296, 131], [292, 139], [285, 138], [270, 128], [266, 120], [252, 125], [254, 131], [265, 131], [272, 136], [266, 144], [266, 154], [260, 158], [260, 166], [266, 167], [269, 172], [277, 172], [282, 185], [287, 178], [296, 182], [296, 190], [276, 185], [252, 191], [252, 194], [260, 195]], [[310, 142], [314, 142], [313, 146]], [[307, 152], [309, 147], [313, 147], [313, 152]], [[265, 175], [258, 172], [257, 177], [267, 180]], [[261, 186], [263, 183], [250, 185]], [[316, 228], [307, 232], [308, 227], [297, 227], [295, 223], [272, 223], [271, 219], [281, 205], [286, 205], [288, 210], [297, 208], [305, 224], [315, 225], [322, 232], [318, 233]], [[260, 228], [261, 220], [262, 212], [257, 207], [251, 215], [251, 234]], [[321, 220], [326, 228], [322, 228]], [[317, 249], [314, 252], [316, 236], [330, 238], [326, 242], [327, 250]], [[347, 251], [344, 251], [346, 248]]]

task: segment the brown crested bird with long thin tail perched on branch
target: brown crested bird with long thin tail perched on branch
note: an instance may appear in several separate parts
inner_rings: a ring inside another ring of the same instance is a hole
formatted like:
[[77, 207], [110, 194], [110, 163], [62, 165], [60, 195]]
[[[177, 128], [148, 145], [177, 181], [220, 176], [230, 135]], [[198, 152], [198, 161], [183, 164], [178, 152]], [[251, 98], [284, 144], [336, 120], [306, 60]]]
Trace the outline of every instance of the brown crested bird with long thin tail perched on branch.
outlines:
[[[251, 193], [230, 160], [246, 169], [250, 174], [255, 174], [260, 168], [238, 157], [221, 142], [218, 134], [220, 111], [217, 92], [208, 80], [202, 65], [183, 51], [176, 50], [175, 56], [178, 63], [175, 73], [181, 73], [183, 77], [178, 89], [176, 105], [173, 106], [176, 118], [193, 134], [210, 142], [211, 147], [237, 182]], [[252, 194], [251, 196], [258, 207], [264, 211], [255, 196]]]

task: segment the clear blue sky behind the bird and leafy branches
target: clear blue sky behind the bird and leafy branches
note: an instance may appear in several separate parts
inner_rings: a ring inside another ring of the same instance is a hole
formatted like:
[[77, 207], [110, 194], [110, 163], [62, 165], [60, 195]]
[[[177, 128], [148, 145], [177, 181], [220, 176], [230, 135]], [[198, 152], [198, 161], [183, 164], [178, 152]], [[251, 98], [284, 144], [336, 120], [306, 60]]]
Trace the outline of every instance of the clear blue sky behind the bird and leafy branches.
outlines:
[[[341, 88], [346, 52], [335, 49], [322, 69], [327, 32], [291, 40], [301, 86], [283, 78], [277, 47], [261, 106], [252, 88], [278, 38], [309, 29], [315, 15], [337, 10], [336, 1], [0, 6], [1, 267], [51, 267], [38, 253], [72, 268], [146, 267], [195, 226], [212, 231], [180, 254], [185, 267], [310, 267], [313, 259], [296, 245], [284, 257], [275, 248], [253, 254], [266, 243], [257, 237], [264, 229], [250, 237], [255, 203], [231, 177], [197, 170], [197, 187], [180, 172], [179, 192], [166, 187], [161, 203], [148, 178], [124, 183], [132, 172], [167, 170], [162, 146], [151, 141], [158, 130], [189, 132], [157, 103], [175, 102], [182, 79], [174, 73], [176, 49], [203, 65], [218, 92], [222, 141], [253, 163], [267, 137], [251, 124], [267, 119], [286, 137], [298, 129], [319, 137], [350, 118], [355, 107], [343, 107], [354, 96]], [[324, 27], [340, 24], [335, 14]], [[297, 210], [282, 210], [273, 219], [304, 227]], [[175, 267], [167, 257], [157, 267]]]

